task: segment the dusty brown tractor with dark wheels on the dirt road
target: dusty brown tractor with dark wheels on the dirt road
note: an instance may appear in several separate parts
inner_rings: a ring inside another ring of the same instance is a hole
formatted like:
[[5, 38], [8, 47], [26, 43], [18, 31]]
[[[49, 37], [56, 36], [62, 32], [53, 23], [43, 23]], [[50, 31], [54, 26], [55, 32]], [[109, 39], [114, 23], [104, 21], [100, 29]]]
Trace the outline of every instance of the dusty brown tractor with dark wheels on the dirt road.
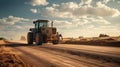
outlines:
[[53, 27], [53, 21], [51, 26], [48, 26], [49, 20], [38, 19], [33, 21], [34, 28], [30, 28], [27, 34], [28, 44], [36, 43], [36, 45], [42, 45], [43, 43], [51, 42], [58, 44], [60, 41], [61, 34], [57, 32], [56, 27]]

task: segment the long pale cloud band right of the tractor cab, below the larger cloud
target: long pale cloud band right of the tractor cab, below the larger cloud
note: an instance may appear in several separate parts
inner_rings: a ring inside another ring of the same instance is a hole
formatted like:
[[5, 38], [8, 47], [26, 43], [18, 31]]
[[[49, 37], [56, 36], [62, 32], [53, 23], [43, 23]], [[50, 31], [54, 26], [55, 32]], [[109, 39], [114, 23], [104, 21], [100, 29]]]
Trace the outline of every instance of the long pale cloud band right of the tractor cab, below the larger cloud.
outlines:
[[[97, 24], [97, 25], [109, 25], [111, 24], [109, 21], [103, 19], [102, 17], [81, 17], [81, 18], [72, 18], [70, 21], [61, 21], [55, 20], [55, 26], [63, 29], [74, 29], [79, 28], [81, 26]], [[93, 26], [92, 26], [93, 27]]]

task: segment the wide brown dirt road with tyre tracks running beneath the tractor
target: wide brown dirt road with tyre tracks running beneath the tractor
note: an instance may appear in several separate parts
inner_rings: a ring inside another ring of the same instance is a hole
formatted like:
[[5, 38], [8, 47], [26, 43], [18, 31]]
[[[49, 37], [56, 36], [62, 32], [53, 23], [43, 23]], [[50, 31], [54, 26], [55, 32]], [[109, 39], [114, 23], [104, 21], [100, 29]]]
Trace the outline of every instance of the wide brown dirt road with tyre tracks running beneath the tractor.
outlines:
[[[102, 60], [106, 58], [103, 54], [102, 57], [91, 58], [96, 53], [119, 56], [119, 48], [67, 44], [27, 46], [27, 44], [10, 43], [9, 45], [12, 45], [10, 46], [12, 51], [19, 54], [22, 60], [35, 67], [120, 67], [119, 62]], [[91, 55], [86, 56], [89, 53]]]

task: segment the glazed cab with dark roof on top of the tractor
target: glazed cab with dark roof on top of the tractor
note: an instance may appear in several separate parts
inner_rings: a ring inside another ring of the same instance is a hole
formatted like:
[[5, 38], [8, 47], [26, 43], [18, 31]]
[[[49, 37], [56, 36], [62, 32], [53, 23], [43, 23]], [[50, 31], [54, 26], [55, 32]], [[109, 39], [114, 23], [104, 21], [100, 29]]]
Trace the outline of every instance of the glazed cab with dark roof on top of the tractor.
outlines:
[[35, 24], [35, 29], [40, 29], [41, 27], [48, 27], [48, 20], [37, 20], [33, 23]]

